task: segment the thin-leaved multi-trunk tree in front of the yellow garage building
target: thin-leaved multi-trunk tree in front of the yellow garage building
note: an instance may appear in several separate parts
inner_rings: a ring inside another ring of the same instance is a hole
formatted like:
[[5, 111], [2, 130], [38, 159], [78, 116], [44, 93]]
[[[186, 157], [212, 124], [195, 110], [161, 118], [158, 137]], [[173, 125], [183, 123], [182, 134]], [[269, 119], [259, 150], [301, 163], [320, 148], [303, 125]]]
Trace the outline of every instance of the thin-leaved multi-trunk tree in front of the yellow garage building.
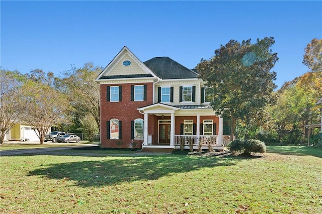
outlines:
[[35, 69], [27, 76], [23, 85], [26, 102], [26, 122], [35, 130], [40, 144], [51, 126], [64, 121], [63, 110], [68, 106], [67, 96], [53, 87], [54, 75], [45, 74], [41, 69]]

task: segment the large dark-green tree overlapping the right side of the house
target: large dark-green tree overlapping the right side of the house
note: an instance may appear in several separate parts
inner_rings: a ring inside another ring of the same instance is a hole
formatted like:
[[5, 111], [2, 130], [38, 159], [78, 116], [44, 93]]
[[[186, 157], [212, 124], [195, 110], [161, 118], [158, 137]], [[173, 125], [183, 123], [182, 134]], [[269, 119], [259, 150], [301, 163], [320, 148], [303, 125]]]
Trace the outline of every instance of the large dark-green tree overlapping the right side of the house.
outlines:
[[271, 69], [278, 61], [277, 53], [270, 49], [274, 43], [273, 37], [257, 39], [256, 44], [251, 44], [251, 39], [241, 43], [230, 40], [220, 45], [211, 59], [201, 59], [197, 65], [200, 78], [213, 94], [213, 110], [230, 118], [231, 139], [238, 120], [274, 101], [276, 73]]

